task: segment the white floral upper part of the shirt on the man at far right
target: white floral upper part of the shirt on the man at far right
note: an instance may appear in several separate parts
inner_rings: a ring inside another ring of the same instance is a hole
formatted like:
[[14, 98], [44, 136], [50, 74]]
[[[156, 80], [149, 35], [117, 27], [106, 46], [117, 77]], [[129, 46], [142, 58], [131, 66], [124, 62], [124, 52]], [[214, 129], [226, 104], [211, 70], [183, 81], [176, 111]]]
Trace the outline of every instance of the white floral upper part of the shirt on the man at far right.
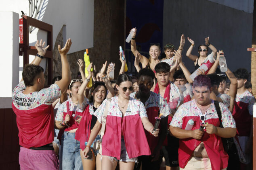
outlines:
[[237, 95], [235, 97], [236, 102], [244, 102], [248, 103], [248, 111], [250, 115], [253, 115], [253, 105], [256, 102], [255, 97], [248, 91], [246, 90], [243, 94]]

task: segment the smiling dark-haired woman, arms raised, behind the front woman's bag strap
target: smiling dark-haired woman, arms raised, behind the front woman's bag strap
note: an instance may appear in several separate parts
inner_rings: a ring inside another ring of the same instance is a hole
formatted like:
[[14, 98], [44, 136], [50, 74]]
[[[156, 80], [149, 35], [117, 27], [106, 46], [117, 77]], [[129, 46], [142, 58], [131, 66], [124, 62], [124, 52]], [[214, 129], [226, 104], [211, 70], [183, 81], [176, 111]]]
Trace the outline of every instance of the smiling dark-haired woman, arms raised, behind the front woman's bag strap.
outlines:
[[[92, 68], [92, 63], [87, 68], [88, 76], [86, 80], [82, 83], [78, 90], [78, 101], [83, 110], [82, 120], [80, 121], [80, 125], [78, 130], [76, 131], [75, 139], [80, 141], [80, 156], [82, 159], [82, 164], [84, 170], [94, 170], [95, 165], [97, 170], [101, 170], [101, 159], [99, 155], [99, 150], [93, 149], [93, 144], [90, 146], [93, 151], [92, 159], [88, 160], [83, 157], [82, 151], [85, 149], [88, 139], [90, 137], [90, 133], [97, 122], [97, 117], [93, 115], [93, 113], [99, 108], [103, 100], [105, 100], [106, 96], [111, 98], [115, 96], [115, 92], [111, 86], [111, 83], [107, 79], [107, 76], [102, 78], [103, 82], [95, 81], [93, 82], [92, 87], [90, 88], [90, 94], [88, 99], [84, 95], [84, 91], [90, 78], [92, 77], [92, 72], [90, 71]], [[107, 94], [107, 90], [109, 93]], [[101, 135], [98, 134], [94, 139], [94, 142], [97, 142], [101, 138]]]

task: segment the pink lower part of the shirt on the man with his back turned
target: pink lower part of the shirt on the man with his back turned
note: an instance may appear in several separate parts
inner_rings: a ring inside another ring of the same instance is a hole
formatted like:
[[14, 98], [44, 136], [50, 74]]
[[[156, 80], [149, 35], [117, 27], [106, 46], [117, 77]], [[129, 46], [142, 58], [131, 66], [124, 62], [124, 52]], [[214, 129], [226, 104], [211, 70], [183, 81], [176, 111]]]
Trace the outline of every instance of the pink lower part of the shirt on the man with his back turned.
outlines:
[[42, 104], [34, 109], [19, 110], [12, 103], [17, 115], [19, 145], [22, 147], [40, 147], [52, 143], [54, 139], [54, 113], [51, 105]]

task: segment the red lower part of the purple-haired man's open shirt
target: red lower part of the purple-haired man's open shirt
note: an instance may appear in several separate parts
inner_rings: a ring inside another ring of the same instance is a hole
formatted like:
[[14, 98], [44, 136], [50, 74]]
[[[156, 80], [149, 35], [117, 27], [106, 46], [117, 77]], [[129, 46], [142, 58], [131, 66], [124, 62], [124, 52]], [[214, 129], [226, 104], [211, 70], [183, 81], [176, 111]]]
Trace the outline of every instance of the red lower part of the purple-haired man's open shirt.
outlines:
[[[188, 116], [183, 118], [182, 129], [185, 129], [189, 119], [194, 120], [194, 126], [192, 130], [200, 128], [200, 117], [199, 116]], [[209, 124], [213, 124], [218, 127], [220, 125], [219, 119], [208, 119], [205, 121]], [[200, 140], [188, 138], [180, 139], [180, 146], [178, 149], [178, 161], [180, 168], [185, 168], [189, 158], [191, 157], [195, 148], [201, 143], [204, 142], [206, 152], [210, 158], [212, 170], [222, 170], [227, 168], [229, 156], [224, 151], [221, 137], [208, 134], [204, 131], [204, 135]]]

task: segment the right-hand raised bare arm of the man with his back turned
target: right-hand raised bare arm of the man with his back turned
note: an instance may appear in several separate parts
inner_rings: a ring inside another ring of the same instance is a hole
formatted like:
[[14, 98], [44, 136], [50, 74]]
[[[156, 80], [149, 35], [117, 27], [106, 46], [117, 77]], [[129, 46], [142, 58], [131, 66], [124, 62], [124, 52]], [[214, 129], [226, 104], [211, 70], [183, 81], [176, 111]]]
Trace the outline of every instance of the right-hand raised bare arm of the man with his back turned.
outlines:
[[71, 39], [68, 39], [65, 46], [61, 49], [61, 46], [58, 45], [59, 53], [61, 55], [61, 80], [56, 82], [56, 84], [61, 89], [61, 93], [67, 88], [71, 81], [71, 72], [69, 67], [69, 62], [67, 61], [67, 52], [71, 47]]

